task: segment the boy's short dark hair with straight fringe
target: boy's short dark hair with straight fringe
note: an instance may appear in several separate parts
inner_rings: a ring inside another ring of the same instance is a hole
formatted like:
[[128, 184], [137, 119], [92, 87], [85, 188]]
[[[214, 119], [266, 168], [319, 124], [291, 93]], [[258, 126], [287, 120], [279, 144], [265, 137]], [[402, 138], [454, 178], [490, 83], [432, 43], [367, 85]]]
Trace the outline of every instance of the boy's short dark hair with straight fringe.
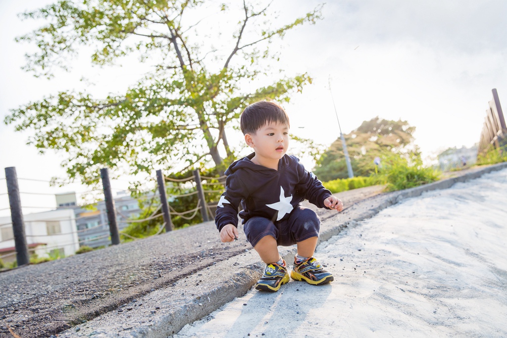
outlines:
[[244, 134], [256, 134], [266, 123], [277, 122], [291, 126], [288, 115], [278, 104], [259, 101], [247, 106], [241, 113], [240, 126]]

